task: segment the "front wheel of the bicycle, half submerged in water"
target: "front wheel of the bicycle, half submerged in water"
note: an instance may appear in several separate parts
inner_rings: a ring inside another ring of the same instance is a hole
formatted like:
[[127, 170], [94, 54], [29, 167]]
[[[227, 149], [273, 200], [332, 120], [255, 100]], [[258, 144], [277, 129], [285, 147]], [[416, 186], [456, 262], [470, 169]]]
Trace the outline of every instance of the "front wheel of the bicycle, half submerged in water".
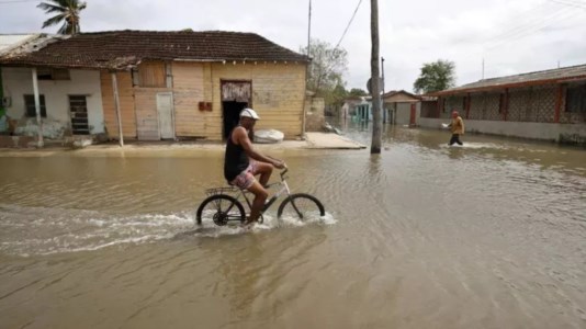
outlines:
[[291, 194], [283, 200], [277, 212], [279, 218], [311, 219], [326, 215], [324, 205], [317, 197], [306, 194]]

